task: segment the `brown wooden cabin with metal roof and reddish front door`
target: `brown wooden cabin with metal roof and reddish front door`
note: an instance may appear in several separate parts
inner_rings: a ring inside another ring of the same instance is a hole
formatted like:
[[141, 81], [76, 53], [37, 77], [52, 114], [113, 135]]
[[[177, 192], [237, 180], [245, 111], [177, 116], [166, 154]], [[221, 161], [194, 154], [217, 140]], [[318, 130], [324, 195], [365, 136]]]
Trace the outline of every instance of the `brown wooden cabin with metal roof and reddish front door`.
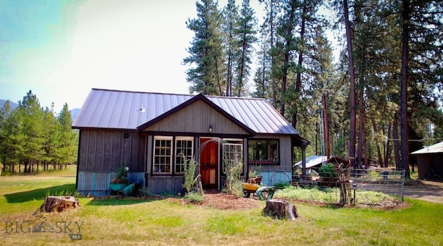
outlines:
[[[195, 158], [204, 189], [224, 187], [224, 163], [260, 166], [262, 182], [291, 182], [293, 149], [309, 142], [264, 99], [93, 88], [73, 129], [80, 130], [76, 189], [109, 194], [118, 167], [153, 193], [177, 193], [183, 156]], [[181, 153], [181, 154], [180, 154]]]

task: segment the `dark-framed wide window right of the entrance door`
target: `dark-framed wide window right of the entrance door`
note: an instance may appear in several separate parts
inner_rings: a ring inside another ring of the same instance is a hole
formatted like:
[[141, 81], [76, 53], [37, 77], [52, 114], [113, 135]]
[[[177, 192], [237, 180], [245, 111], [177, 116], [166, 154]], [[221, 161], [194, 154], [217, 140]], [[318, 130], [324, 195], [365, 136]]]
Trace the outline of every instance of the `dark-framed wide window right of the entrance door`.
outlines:
[[248, 164], [280, 164], [278, 140], [249, 140]]

